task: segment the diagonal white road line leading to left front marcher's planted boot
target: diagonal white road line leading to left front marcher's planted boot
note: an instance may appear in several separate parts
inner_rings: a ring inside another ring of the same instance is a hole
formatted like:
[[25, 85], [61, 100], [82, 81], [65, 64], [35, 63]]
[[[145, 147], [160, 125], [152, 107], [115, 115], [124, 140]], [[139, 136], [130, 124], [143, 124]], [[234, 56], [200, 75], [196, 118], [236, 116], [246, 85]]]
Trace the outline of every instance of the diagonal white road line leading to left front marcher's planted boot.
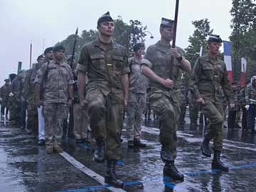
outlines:
[[[91, 178], [95, 179], [97, 182], [99, 182], [102, 185], [107, 185], [107, 183], [104, 182], [105, 179], [102, 176], [95, 173], [95, 171], [92, 171], [91, 169], [87, 168], [87, 166], [81, 164], [73, 156], [70, 156], [70, 154], [64, 151], [63, 153], [60, 153], [60, 155], [63, 156], [63, 158], [66, 159], [68, 162], [70, 162], [70, 164], [73, 164], [75, 168], [87, 174], [87, 176], [90, 176]], [[113, 192], [127, 192], [127, 191], [124, 191], [122, 188], [107, 187], [107, 189]]]

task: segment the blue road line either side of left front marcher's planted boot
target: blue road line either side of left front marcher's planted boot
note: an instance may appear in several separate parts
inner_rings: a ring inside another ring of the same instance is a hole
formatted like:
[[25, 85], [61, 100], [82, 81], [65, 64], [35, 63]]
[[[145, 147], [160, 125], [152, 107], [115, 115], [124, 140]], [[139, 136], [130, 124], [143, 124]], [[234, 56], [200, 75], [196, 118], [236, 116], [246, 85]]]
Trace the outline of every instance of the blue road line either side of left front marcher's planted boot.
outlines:
[[[142, 185], [142, 181], [127, 181], [124, 182], [124, 186], [137, 186], [137, 185]], [[65, 190], [60, 190], [57, 192], [86, 192], [86, 191], [97, 191], [99, 189], [104, 189], [111, 187], [111, 185], [102, 185], [102, 186], [87, 186], [83, 188], [70, 188], [70, 189], [65, 189]]]

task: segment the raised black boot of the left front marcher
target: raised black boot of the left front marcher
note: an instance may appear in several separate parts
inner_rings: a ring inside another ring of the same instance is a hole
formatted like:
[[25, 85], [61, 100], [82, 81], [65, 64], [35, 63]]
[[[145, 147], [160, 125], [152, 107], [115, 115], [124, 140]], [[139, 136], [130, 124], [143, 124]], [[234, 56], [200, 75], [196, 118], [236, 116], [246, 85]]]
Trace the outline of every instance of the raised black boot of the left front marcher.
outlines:
[[105, 161], [105, 142], [102, 137], [96, 139], [93, 157], [97, 163], [104, 163]]

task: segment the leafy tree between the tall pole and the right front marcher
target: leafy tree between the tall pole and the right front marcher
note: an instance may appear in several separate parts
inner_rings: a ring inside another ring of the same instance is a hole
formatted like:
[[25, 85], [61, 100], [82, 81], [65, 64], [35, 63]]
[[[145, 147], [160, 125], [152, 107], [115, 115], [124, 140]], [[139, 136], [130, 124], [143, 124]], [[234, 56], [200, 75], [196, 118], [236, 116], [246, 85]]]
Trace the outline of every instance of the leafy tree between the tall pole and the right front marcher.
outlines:
[[190, 45], [185, 49], [186, 58], [190, 61], [191, 67], [196, 63], [196, 59], [199, 57], [200, 48], [203, 46], [203, 53], [206, 53], [207, 36], [213, 33], [210, 29], [210, 21], [208, 18], [204, 18], [198, 21], [192, 21], [193, 26], [196, 30], [192, 36], [189, 36], [188, 42]]

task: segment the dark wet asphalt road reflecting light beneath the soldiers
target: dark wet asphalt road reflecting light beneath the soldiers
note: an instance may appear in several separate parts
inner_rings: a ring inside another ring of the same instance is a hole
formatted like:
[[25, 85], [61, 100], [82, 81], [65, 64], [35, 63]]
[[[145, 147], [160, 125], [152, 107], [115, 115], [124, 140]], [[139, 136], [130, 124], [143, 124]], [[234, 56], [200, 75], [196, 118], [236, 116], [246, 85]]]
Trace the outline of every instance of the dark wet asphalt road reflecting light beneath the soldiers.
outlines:
[[[187, 119], [187, 122], [189, 120]], [[225, 131], [222, 159], [230, 166], [228, 173], [211, 170], [211, 159], [201, 155], [202, 130], [178, 129], [176, 166], [185, 174], [183, 182], [164, 178], [159, 152], [157, 122], [144, 122], [142, 139], [146, 149], [127, 149], [123, 137], [122, 156], [117, 174], [125, 181], [125, 191], [256, 191], [256, 136]], [[125, 130], [124, 130], [125, 135]], [[92, 161], [92, 147], [63, 140], [64, 154], [80, 162], [80, 168], [60, 154], [46, 154], [28, 132], [7, 123], [0, 124], [0, 192], [82, 192], [111, 191], [81, 170], [86, 166], [105, 176], [105, 164]], [[82, 165], [82, 166], [81, 166]], [[80, 170], [81, 169], [81, 170]]]

